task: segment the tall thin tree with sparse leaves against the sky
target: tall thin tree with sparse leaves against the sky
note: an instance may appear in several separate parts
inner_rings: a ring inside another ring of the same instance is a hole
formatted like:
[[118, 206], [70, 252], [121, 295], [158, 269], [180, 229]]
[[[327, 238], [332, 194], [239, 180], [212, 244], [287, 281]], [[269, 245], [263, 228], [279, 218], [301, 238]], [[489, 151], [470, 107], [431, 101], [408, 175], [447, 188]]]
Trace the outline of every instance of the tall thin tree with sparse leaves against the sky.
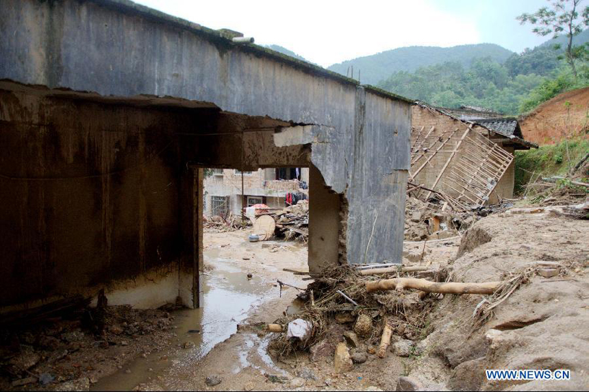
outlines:
[[[571, 71], [577, 79], [577, 68], [575, 60], [584, 55], [584, 47], [573, 47], [573, 37], [583, 31], [584, 26], [589, 25], [589, 5], [581, 11], [581, 3], [584, 0], [548, 0], [551, 8], [542, 7], [534, 14], [521, 14], [517, 20], [523, 25], [530, 23], [538, 25], [532, 32], [547, 36], [553, 34], [556, 38], [560, 34], [565, 34], [568, 38], [564, 57]], [[579, 15], [579, 11], [581, 14]], [[580, 16], [580, 18], [579, 18]]]

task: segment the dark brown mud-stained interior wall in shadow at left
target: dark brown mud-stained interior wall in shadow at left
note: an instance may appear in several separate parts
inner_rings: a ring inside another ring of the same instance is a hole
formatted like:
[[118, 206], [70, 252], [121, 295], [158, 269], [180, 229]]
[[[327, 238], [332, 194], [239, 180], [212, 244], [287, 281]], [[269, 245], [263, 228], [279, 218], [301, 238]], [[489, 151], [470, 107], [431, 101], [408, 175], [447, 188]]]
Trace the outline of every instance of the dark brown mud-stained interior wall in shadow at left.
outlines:
[[175, 132], [198, 123], [170, 108], [0, 90], [0, 305], [177, 275], [192, 238], [180, 235], [187, 169]]

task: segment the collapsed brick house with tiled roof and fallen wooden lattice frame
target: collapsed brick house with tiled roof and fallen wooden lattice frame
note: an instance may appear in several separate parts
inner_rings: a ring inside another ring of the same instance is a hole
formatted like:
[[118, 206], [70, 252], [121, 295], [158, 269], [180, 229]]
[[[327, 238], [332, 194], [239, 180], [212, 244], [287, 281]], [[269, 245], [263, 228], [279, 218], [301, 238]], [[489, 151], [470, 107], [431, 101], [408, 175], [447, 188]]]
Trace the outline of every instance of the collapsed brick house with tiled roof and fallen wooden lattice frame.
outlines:
[[453, 210], [494, 204], [513, 197], [514, 151], [531, 147], [538, 146], [524, 140], [515, 118], [418, 101], [412, 106], [409, 181], [419, 199], [440, 191]]

